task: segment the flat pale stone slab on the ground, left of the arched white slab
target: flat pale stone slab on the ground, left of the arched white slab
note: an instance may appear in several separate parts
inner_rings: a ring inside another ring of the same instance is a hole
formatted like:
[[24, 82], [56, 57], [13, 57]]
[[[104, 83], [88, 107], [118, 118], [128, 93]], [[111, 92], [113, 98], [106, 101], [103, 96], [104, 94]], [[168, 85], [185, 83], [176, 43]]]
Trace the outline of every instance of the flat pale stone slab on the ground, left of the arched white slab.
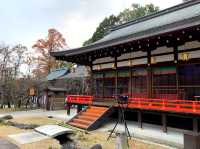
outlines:
[[27, 144], [49, 138], [48, 136], [45, 136], [38, 132], [25, 132], [25, 133], [9, 135], [8, 137], [15, 140], [19, 144]]

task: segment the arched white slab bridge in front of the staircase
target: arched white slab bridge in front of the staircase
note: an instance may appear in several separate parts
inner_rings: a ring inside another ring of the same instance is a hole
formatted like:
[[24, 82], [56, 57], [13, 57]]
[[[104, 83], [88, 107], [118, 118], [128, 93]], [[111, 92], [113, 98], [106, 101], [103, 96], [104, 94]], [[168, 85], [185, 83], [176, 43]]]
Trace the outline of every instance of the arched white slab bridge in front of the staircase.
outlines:
[[50, 137], [57, 137], [59, 135], [63, 135], [63, 134], [71, 134], [73, 133], [72, 129], [66, 128], [66, 127], [62, 127], [62, 126], [58, 126], [58, 125], [44, 125], [44, 126], [40, 126], [35, 128], [35, 131], [50, 136]]

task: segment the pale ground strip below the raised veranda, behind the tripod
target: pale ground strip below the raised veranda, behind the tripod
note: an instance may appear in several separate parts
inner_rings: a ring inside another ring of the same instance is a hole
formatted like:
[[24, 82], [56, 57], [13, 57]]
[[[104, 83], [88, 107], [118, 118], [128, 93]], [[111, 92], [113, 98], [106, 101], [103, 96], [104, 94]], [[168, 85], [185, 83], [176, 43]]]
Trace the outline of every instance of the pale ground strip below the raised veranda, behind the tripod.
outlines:
[[[109, 121], [97, 131], [111, 131], [115, 125], [114, 121]], [[167, 133], [162, 131], [161, 126], [145, 124], [139, 128], [137, 122], [127, 121], [128, 129], [131, 136], [152, 141], [155, 143], [165, 144], [172, 147], [183, 148], [184, 136], [181, 132], [168, 129]], [[118, 124], [115, 132], [124, 132], [124, 125]]]

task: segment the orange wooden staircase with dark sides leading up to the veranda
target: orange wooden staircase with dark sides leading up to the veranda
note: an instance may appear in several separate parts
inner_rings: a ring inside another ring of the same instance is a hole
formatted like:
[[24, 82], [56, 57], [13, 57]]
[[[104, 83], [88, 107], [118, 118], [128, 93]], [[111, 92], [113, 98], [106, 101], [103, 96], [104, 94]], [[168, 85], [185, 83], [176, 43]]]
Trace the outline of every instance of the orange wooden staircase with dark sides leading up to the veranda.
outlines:
[[90, 106], [67, 123], [81, 129], [94, 130], [108, 118], [112, 111], [113, 108], [109, 107]]

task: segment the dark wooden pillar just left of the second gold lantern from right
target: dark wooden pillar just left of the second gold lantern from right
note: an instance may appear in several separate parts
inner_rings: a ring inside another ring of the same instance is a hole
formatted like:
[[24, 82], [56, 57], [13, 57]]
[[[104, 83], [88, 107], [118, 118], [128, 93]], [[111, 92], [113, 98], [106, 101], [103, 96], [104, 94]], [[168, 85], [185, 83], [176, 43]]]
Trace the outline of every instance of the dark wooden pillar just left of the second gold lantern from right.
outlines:
[[151, 50], [147, 50], [147, 95], [152, 98], [152, 68], [151, 68]]

